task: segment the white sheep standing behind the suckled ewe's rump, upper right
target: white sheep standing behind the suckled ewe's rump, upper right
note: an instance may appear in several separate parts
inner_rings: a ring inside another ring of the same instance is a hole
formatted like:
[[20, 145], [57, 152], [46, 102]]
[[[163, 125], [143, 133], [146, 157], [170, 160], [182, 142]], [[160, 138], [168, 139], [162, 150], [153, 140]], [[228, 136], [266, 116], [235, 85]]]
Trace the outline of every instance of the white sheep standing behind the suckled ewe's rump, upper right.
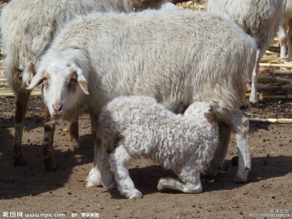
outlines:
[[283, 0], [208, 0], [207, 10], [224, 16], [255, 37], [257, 55], [252, 74], [249, 107], [258, 107], [259, 63], [277, 33], [283, 10]]

